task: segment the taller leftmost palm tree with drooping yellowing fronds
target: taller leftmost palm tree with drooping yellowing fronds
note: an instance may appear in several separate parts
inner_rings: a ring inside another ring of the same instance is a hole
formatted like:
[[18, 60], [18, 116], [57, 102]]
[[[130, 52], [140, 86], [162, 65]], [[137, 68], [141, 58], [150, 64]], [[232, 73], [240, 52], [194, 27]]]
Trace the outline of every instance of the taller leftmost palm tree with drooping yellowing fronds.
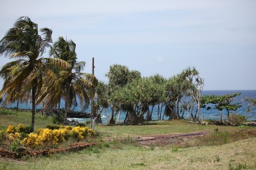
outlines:
[[[5, 80], [0, 98], [5, 96], [4, 101], [7, 102], [17, 100], [25, 93], [31, 93], [33, 131], [36, 99], [42, 92], [42, 87], [51, 87], [55, 79], [49, 67], [69, 68], [69, 64], [65, 61], [42, 57], [49, 43], [52, 42], [52, 30], [43, 28], [40, 32], [41, 35], [38, 34], [37, 24], [29, 17], [20, 17], [0, 41], [0, 55], [14, 59], [0, 70], [0, 76]], [[12, 89], [19, 89], [19, 92], [13, 95]]]

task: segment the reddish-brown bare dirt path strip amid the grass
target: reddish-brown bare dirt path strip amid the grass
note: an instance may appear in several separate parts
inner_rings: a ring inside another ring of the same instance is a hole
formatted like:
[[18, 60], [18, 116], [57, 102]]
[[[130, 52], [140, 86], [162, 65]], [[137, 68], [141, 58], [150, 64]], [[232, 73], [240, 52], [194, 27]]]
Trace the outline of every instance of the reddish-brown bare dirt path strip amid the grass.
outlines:
[[204, 136], [205, 131], [191, 132], [191, 133], [175, 133], [175, 134], [160, 134], [160, 135], [146, 135], [137, 137], [140, 144], [151, 145], [157, 144], [172, 144], [181, 143], [192, 137]]

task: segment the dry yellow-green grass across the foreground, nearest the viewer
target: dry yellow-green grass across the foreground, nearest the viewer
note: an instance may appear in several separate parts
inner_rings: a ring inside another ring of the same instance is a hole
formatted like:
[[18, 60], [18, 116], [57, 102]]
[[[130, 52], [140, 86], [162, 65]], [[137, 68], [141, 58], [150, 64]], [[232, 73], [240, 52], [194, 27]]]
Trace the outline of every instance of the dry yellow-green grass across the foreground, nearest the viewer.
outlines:
[[125, 145], [23, 161], [0, 159], [0, 169], [255, 169], [256, 138], [211, 147], [154, 150]]

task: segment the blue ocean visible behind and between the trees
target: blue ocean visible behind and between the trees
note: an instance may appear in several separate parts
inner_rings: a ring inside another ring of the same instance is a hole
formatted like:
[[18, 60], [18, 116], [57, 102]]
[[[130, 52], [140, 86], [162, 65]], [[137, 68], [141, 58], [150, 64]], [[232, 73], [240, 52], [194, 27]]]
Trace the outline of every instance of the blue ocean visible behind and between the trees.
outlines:
[[[236, 92], [241, 92], [241, 94], [239, 96], [237, 96], [236, 98], [234, 98], [233, 102], [234, 103], [241, 103], [241, 107], [235, 112], [237, 114], [240, 115], [245, 115], [245, 110], [246, 110], [246, 104], [242, 101], [243, 98], [245, 98], [246, 96], [248, 98], [256, 98], [256, 90], [204, 90], [203, 91], [203, 95], [209, 95], [209, 94], [214, 94], [214, 95], [223, 95], [223, 94], [232, 94], [232, 93], [236, 93]], [[60, 104], [61, 107], [65, 106], [65, 103], [63, 101], [61, 101]], [[13, 108], [16, 107], [16, 103], [13, 103], [9, 106], [7, 106], [8, 108]], [[29, 104], [27, 105], [26, 103], [20, 103], [19, 104], [19, 108], [20, 109], [30, 109], [32, 108], [32, 105]], [[42, 106], [38, 105], [36, 107], [37, 109], [42, 108]], [[202, 116], [204, 115], [205, 119], [219, 119], [220, 118], [220, 113], [219, 110], [214, 109], [214, 106], [211, 107], [212, 109], [210, 110], [206, 110], [206, 109], [202, 109], [200, 110], [200, 117], [202, 118]], [[78, 107], [73, 108], [73, 110], [75, 111], [80, 111], [80, 107], [78, 105]], [[85, 110], [85, 112], [90, 112], [90, 108], [88, 108], [87, 110]], [[108, 121], [109, 115], [111, 113], [110, 108], [107, 111], [102, 111], [101, 113], [101, 118], [102, 118], [102, 122], [106, 123]], [[230, 113], [234, 113], [234, 112], [230, 112]], [[255, 120], [256, 119], [256, 108], [252, 107], [252, 113], [253, 115], [251, 117], [248, 118], [248, 120]], [[184, 118], [188, 118], [189, 117], [189, 113], [184, 113]], [[226, 110], [222, 111], [222, 117], [225, 119], [227, 115]], [[120, 114], [120, 122], [122, 122], [122, 120], [124, 120], [125, 117], [125, 113], [121, 112]], [[157, 119], [157, 107], [154, 108], [153, 110], [153, 120]], [[165, 116], [165, 119], [167, 119], [168, 117]], [[88, 120], [88, 118], [70, 118], [70, 120], [76, 120], [78, 122], [84, 122], [86, 120]]]

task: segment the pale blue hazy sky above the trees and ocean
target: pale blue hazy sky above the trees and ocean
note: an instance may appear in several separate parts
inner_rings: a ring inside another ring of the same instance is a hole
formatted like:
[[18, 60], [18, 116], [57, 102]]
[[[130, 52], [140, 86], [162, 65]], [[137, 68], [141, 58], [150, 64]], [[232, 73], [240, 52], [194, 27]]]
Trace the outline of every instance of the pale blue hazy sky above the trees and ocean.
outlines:
[[[20, 16], [75, 41], [104, 82], [110, 65], [165, 78], [195, 66], [205, 90], [256, 89], [256, 1], [0, 1], [0, 38]], [[44, 54], [48, 57], [48, 53]], [[8, 58], [0, 56], [0, 66]], [[3, 80], [0, 80], [2, 86]]]

